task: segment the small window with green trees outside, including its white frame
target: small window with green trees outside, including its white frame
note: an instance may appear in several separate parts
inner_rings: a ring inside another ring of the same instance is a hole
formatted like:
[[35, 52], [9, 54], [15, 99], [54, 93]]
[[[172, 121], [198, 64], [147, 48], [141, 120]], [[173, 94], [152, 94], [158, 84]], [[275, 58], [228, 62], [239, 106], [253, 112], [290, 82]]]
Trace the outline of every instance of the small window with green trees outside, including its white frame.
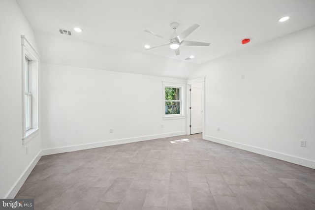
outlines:
[[163, 82], [163, 119], [184, 118], [185, 84]]

